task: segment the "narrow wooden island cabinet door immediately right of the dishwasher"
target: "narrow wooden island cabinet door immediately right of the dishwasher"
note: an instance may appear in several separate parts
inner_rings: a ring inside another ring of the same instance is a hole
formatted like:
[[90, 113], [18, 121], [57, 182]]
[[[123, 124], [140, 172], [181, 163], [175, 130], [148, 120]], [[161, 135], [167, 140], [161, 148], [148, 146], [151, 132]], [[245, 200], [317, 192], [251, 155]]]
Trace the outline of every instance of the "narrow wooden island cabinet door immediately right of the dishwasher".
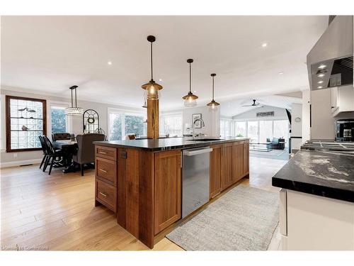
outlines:
[[212, 145], [210, 153], [210, 199], [221, 190], [221, 155], [222, 145]]

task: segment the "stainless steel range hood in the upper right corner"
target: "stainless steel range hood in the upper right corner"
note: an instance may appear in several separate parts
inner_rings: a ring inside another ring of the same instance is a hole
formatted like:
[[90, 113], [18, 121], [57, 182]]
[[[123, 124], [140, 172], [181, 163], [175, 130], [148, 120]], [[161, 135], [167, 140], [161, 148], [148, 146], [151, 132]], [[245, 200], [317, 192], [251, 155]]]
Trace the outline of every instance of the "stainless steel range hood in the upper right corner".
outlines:
[[311, 90], [353, 84], [353, 16], [336, 16], [307, 55]]

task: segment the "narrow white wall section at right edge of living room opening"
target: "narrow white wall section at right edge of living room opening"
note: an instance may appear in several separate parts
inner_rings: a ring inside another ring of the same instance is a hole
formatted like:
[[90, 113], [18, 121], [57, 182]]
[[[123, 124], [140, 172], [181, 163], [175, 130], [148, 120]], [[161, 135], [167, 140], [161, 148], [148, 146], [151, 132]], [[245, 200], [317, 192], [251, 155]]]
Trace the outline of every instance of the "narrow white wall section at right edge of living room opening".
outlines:
[[[300, 121], [296, 121], [300, 118]], [[291, 105], [291, 137], [302, 137], [302, 104]], [[302, 144], [302, 138], [292, 138], [291, 148], [299, 150]]]

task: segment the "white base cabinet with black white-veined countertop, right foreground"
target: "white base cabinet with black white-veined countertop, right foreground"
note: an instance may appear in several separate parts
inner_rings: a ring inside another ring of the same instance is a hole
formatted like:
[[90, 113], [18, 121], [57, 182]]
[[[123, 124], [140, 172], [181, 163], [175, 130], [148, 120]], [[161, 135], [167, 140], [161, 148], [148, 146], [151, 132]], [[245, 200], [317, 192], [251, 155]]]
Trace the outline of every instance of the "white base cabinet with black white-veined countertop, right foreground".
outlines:
[[283, 250], [354, 250], [354, 152], [300, 150], [272, 184]]

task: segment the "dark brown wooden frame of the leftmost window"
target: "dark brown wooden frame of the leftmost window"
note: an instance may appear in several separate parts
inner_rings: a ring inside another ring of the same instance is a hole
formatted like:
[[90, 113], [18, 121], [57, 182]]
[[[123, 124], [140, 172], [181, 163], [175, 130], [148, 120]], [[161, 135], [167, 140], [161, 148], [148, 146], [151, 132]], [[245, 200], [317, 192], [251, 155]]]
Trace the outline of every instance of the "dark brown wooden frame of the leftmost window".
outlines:
[[26, 152], [26, 151], [34, 151], [34, 150], [42, 150], [42, 148], [21, 148], [21, 149], [11, 149], [11, 115], [10, 115], [10, 100], [23, 100], [23, 101], [40, 101], [42, 102], [42, 133], [43, 135], [47, 135], [47, 100], [45, 99], [35, 99], [21, 96], [11, 96], [6, 95], [6, 153], [17, 153], [17, 152]]

